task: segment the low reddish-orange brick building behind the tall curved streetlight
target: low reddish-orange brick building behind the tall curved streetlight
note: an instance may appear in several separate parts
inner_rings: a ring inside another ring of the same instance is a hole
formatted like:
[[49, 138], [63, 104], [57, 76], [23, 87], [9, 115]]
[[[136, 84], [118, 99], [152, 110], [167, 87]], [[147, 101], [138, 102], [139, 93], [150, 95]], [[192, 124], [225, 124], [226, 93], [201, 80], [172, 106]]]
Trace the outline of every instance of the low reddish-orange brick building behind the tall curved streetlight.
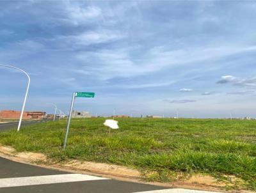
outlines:
[[[1, 119], [19, 119], [21, 111], [3, 110], [0, 111]], [[24, 120], [40, 120], [45, 118], [45, 112], [41, 111], [27, 111], [23, 113]]]

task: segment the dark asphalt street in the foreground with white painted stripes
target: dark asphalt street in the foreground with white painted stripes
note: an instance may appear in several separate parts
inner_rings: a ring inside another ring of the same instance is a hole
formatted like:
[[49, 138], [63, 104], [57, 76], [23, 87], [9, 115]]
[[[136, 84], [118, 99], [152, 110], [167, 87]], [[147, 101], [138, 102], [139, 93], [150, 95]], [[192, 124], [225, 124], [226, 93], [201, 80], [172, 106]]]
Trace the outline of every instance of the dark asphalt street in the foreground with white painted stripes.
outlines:
[[[21, 164], [0, 157], [0, 192], [2, 193], [204, 193], [205, 191], [166, 189], [155, 185], [111, 180], [85, 174]], [[207, 192], [209, 193], [209, 192]]]

